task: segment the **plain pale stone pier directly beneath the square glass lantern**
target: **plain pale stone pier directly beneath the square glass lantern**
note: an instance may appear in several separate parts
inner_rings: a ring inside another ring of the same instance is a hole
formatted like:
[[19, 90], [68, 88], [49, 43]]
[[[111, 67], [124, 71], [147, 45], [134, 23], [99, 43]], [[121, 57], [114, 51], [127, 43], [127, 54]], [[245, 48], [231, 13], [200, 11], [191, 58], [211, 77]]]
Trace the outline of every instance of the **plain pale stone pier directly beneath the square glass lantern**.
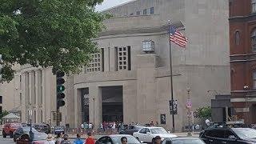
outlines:
[[157, 66], [156, 54], [137, 55], [137, 103], [138, 122], [146, 123], [158, 119], [155, 67]]

